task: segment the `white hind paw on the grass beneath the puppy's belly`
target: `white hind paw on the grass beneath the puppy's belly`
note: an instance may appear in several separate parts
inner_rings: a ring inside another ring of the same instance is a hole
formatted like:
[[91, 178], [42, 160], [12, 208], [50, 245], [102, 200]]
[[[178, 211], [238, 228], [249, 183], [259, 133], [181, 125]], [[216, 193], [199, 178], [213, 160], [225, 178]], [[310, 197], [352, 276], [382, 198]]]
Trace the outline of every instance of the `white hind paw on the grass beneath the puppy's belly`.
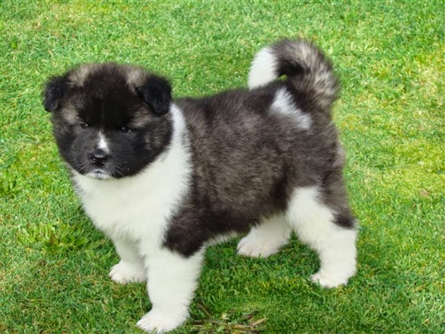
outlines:
[[251, 257], [267, 257], [277, 253], [280, 247], [286, 243], [285, 240], [278, 241], [279, 242], [277, 242], [277, 240], [260, 239], [247, 235], [238, 243], [238, 254]]

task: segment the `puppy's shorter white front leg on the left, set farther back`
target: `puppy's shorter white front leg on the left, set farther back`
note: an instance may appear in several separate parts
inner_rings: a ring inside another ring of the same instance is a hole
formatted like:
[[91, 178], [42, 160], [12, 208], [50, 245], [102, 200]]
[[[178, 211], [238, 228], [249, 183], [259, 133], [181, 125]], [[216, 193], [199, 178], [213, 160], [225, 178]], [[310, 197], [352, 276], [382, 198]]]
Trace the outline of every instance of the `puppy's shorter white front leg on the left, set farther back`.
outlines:
[[145, 282], [146, 269], [135, 244], [126, 239], [113, 239], [113, 243], [121, 260], [111, 267], [108, 276], [120, 284]]

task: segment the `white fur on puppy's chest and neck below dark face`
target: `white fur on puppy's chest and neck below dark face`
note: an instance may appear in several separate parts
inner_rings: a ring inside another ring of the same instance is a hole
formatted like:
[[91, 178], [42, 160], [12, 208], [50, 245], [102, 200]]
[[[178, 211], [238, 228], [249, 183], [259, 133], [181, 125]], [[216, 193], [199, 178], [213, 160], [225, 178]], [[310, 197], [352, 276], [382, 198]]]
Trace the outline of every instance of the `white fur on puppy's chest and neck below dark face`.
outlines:
[[171, 111], [172, 142], [143, 172], [106, 180], [74, 176], [85, 211], [112, 239], [143, 241], [158, 248], [173, 210], [188, 190], [191, 165], [184, 122], [175, 106]]

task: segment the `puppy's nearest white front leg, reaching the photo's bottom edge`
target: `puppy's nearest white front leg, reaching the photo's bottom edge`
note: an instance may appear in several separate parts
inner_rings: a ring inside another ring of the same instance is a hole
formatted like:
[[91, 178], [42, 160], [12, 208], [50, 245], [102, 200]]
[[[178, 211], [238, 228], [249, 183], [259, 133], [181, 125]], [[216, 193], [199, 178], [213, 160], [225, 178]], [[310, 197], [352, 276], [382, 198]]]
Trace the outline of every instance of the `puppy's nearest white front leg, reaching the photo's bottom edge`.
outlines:
[[152, 309], [137, 322], [137, 327], [164, 333], [187, 320], [203, 255], [204, 249], [184, 257], [164, 248], [147, 259], [147, 291]]

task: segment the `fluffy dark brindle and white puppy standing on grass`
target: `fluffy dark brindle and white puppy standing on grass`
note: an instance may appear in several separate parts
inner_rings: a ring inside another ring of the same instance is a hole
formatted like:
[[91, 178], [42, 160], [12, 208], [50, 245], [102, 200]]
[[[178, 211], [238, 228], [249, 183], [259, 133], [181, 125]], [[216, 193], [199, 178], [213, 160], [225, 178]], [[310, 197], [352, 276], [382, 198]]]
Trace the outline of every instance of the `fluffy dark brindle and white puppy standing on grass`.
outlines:
[[283, 40], [258, 52], [248, 86], [174, 100], [166, 79], [114, 63], [46, 84], [60, 155], [120, 256], [111, 279], [147, 282], [142, 330], [187, 319], [206, 247], [236, 233], [248, 232], [239, 254], [267, 257], [295, 231], [319, 255], [321, 286], [356, 272], [330, 62], [309, 42]]

